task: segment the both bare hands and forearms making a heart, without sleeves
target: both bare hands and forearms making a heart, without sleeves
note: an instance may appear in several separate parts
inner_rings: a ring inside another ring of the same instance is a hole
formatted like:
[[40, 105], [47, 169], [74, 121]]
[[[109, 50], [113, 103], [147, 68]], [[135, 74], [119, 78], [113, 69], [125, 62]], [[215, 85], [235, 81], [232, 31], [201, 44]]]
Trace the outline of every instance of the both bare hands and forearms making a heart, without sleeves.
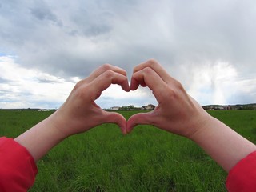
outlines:
[[[94, 102], [111, 84], [118, 84], [125, 91], [137, 90], [140, 85], [148, 86], [158, 106], [150, 113], [134, 114], [126, 122], [121, 114], [106, 112]], [[186, 93], [181, 83], [152, 59], [134, 68], [130, 86], [125, 70], [116, 66], [101, 66], [77, 83], [59, 110], [15, 138], [15, 141], [25, 146], [38, 161], [70, 135], [108, 122], [120, 126], [123, 134], [130, 133], [136, 125], [149, 124], [190, 138], [226, 171], [256, 150], [253, 143], [207, 114]]]

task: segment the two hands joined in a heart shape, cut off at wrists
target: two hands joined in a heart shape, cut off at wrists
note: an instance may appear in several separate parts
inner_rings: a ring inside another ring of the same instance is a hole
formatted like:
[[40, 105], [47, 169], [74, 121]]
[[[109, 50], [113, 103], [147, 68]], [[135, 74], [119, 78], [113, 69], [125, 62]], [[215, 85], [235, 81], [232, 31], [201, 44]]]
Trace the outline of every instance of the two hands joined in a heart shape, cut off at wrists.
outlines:
[[[118, 84], [126, 92], [138, 90], [138, 86], [148, 87], [158, 106], [148, 113], [134, 114], [128, 120], [122, 114], [102, 110], [95, 101], [111, 84]], [[181, 83], [170, 77], [154, 60], [134, 68], [130, 85], [125, 70], [110, 65], [98, 68], [76, 84], [58, 111], [61, 126], [66, 127], [63, 129], [66, 135], [78, 134], [102, 123], [115, 123], [121, 127], [123, 134], [130, 133], [134, 126], [142, 124], [186, 136], [193, 133], [191, 127], [196, 127], [195, 123], [201, 122], [202, 115], [206, 114], [198, 102], [190, 98]]]

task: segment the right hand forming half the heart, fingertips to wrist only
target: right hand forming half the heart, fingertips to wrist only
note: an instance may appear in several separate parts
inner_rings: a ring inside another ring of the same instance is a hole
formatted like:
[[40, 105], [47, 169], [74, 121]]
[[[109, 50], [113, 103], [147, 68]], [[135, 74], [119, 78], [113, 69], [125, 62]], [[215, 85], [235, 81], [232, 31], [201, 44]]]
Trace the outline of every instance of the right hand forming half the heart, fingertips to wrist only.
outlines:
[[130, 117], [127, 132], [138, 124], [150, 124], [190, 138], [209, 117], [198, 102], [186, 93], [181, 83], [170, 77], [154, 60], [134, 68], [130, 90], [137, 90], [139, 85], [148, 86], [153, 91], [158, 106], [149, 113]]

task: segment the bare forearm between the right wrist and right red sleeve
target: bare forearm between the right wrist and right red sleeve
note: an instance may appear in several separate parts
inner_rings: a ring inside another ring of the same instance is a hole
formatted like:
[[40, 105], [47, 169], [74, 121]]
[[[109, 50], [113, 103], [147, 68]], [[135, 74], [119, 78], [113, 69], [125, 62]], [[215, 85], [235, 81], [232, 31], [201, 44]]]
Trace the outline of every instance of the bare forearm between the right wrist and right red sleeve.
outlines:
[[218, 119], [208, 117], [203, 128], [191, 139], [202, 147], [227, 172], [256, 146]]

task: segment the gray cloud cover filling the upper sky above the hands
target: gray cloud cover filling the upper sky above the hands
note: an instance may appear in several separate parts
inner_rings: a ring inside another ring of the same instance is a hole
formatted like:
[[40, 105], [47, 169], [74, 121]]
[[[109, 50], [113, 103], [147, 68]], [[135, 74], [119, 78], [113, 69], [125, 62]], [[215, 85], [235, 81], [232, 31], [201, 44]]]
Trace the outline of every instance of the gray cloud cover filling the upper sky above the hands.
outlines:
[[135, 65], [156, 58], [190, 90], [194, 69], [217, 62], [254, 77], [255, 6], [253, 0], [5, 1], [0, 50], [17, 54], [23, 67], [66, 79], [84, 78], [106, 62], [130, 76]]

